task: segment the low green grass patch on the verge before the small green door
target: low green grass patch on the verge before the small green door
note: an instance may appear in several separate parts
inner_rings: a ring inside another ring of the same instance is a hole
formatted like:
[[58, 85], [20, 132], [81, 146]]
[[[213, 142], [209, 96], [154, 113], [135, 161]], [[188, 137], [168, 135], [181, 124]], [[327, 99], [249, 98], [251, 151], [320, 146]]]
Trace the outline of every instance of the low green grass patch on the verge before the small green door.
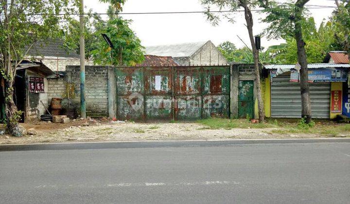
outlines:
[[233, 129], [233, 128], [272, 128], [276, 125], [271, 123], [251, 123], [247, 119], [201, 119], [198, 123], [209, 129]]

